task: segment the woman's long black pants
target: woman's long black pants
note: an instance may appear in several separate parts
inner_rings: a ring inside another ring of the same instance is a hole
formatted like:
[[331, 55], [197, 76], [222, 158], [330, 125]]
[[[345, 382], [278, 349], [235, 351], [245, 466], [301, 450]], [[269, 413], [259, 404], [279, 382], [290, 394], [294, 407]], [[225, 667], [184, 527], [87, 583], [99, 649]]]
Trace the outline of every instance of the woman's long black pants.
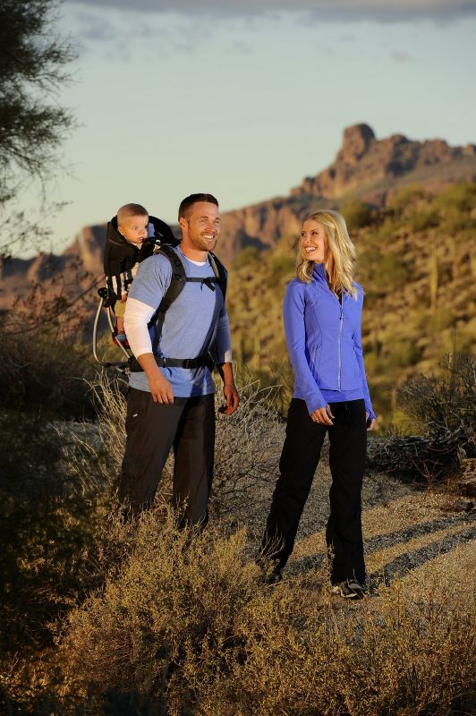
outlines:
[[281, 570], [293, 551], [302, 510], [310, 492], [326, 431], [329, 432], [329, 492], [327, 553], [331, 558], [331, 582], [347, 579], [365, 582], [361, 529], [361, 487], [367, 447], [363, 400], [331, 403], [334, 425], [313, 422], [303, 400], [289, 406], [285, 444], [279, 462], [266, 532], [261, 544], [263, 558]]

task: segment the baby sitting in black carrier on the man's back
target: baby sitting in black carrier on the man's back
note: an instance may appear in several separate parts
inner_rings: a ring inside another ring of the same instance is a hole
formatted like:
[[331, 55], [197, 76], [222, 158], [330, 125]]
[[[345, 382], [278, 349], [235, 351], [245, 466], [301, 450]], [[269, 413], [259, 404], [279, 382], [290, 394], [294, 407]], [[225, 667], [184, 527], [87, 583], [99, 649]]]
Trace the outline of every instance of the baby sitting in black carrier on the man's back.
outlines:
[[149, 217], [140, 204], [125, 204], [107, 224], [104, 272], [107, 299], [105, 304], [115, 311], [116, 328], [113, 340], [129, 347], [124, 333], [124, 311], [129, 287], [140, 261], [147, 259], [160, 242], [175, 245], [172, 229], [164, 221]]

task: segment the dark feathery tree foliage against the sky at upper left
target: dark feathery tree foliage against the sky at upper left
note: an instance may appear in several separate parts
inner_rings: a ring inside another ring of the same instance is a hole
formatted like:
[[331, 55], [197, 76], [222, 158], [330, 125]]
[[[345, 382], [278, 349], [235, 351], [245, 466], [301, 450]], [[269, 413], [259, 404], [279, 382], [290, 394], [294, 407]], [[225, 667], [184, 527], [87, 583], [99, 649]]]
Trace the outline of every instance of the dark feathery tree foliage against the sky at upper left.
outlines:
[[73, 124], [57, 103], [73, 57], [53, 31], [58, 8], [57, 0], [0, 4], [0, 206], [21, 178], [45, 181]]

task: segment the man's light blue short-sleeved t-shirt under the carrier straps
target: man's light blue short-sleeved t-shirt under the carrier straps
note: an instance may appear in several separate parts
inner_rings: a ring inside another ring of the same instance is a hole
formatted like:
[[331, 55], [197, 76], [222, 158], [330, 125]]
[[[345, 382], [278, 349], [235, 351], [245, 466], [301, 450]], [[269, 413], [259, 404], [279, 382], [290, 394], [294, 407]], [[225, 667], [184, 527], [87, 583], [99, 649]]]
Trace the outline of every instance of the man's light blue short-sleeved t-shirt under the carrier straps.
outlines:
[[[208, 260], [200, 265], [187, 259], [176, 249], [183, 260], [187, 277], [214, 278]], [[156, 310], [172, 278], [170, 261], [158, 253], [140, 263], [129, 297], [146, 303]], [[157, 350], [166, 358], [196, 358], [208, 350], [217, 362], [231, 361], [230, 329], [224, 296], [218, 284], [212, 291], [202, 282], [187, 282], [182, 293], [166, 311], [166, 319]], [[153, 341], [155, 326], [150, 329]], [[215, 392], [208, 368], [160, 368], [170, 381], [176, 397], [206, 396]], [[149, 391], [144, 372], [131, 373], [132, 388]]]

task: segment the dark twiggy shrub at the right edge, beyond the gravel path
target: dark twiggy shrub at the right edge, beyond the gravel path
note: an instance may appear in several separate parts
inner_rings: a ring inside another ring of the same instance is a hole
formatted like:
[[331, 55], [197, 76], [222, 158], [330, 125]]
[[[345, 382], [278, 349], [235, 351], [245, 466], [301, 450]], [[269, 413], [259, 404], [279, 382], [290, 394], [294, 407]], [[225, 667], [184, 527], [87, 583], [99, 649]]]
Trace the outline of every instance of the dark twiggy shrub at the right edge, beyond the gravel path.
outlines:
[[462, 455], [475, 455], [476, 361], [449, 354], [441, 368], [440, 377], [420, 375], [398, 388], [397, 405], [420, 434], [382, 442], [373, 456], [378, 469], [431, 484], [454, 472]]

